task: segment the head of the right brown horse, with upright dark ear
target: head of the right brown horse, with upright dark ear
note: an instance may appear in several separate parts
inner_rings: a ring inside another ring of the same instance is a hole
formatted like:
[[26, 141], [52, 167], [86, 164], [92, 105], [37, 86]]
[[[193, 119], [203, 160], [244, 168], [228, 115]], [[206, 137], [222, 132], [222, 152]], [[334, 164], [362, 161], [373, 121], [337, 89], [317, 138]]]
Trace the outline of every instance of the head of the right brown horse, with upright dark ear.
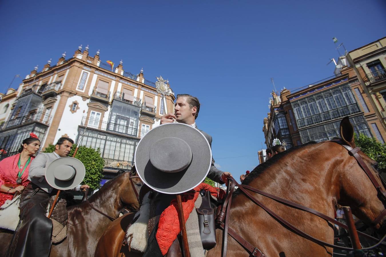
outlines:
[[385, 198], [382, 194], [385, 188], [378, 175], [378, 165], [356, 148], [354, 129], [348, 117], [340, 123], [340, 136], [340, 144], [349, 147], [334, 144], [331, 149], [336, 153], [336, 168], [340, 171], [337, 202], [350, 206], [354, 215], [378, 229], [386, 217], [383, 215]]

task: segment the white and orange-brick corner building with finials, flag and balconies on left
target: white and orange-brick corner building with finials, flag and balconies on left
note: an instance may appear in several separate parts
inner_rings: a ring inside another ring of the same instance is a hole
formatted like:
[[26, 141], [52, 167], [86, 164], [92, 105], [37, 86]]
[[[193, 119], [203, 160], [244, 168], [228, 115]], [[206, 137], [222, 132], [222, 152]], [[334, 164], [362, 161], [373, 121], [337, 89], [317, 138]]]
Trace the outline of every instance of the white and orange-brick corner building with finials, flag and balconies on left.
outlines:
[[[30, 132], [37, 134], [42, 148], [61, 136], [75, 143], [100, 148], [107, 172], [130, 169], [134, 151], [150, 129], [160, 124], [164, 112], [156, 85], [124, 71], [122, 60], [113, 68], [94, 57], [88, 46], [80, 46], [73, 57], [64, 53], [25, 77], [19, 89], [8, 90], [0, 102], [0, 147], [2, 158], [17, 153]], [[167, 81], [168, 83], [168, 81]], [[166, 96], [168, 110], [174, 108], [174, 93]], [[82, 138], [82, 140], [80, 140]]]

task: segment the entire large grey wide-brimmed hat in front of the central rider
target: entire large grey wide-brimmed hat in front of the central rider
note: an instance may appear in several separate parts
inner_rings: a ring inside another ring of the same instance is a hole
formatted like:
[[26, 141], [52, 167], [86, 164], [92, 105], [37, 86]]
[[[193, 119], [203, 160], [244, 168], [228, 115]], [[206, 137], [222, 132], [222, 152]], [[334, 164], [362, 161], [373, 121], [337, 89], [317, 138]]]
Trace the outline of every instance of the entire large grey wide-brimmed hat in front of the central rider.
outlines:
[[212, 151], [192, 126], [166, 123], [150, 130], [137, 145], [135, 168], [150, 188], [166, 194], [189, 191], [208, 175]]

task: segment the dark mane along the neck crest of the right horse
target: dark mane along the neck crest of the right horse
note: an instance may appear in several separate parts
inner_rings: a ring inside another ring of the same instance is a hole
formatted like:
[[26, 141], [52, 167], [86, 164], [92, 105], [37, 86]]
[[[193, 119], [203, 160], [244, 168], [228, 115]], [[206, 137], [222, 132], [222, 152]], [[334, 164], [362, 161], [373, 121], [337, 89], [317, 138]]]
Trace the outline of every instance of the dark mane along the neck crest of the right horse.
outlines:
[[[266, 160], [264, 161], [263, 163], [259, 164], [256, 166], [256, 168], [254, 168], [254, 170], [251, 171], [251, 173], [249, 173], [249, 175], [244, 179], [243, 181], [243, 185], [249, 185], [253, 180], [255, 180], [256, 178], [258, 178], [259, 176], [261, 176], [266, 170], [268, 170], [268, 168], [277, 163], [278, 160], [283, 157], [283, 156], [286, 156], [286, 155], [289, 155], [295, 151], [298, 151], [298, 149], [301, 149], [301, 148], [305, 148], [307, 146], [310, 146], [310, 145], [313, 145], [313, 144], [317, 144], [317, 142], [315, 141], [310, 141], [308, 143], [305, 143], [305, 144], [302, 144], [300, 146], [294, 146], [292, 148], [289, 148], [287, 149], [286, 151], [283, 151], [281, 153], [278, 153], [276, 155], [274, 155], [271, 159], [269, 160]], [[236, 190], [235, 193], [237, 195], [237, 193], [239, 193], [240, 190]]]

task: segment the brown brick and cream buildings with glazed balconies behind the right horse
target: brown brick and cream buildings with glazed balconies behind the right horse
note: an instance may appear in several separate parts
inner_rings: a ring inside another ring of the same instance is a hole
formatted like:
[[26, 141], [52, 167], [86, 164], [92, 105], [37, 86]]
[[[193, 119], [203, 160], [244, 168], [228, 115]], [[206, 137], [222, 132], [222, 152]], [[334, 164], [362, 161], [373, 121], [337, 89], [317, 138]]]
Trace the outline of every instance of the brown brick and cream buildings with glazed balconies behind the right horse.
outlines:
[[272, 92], [264, 118], [267, 147], [274, 138], [286, 148], [340, 136], [339, 124], [350, 117], [355, 133], [386, 141], [386, 37], [339, 57], [334, 76]]

